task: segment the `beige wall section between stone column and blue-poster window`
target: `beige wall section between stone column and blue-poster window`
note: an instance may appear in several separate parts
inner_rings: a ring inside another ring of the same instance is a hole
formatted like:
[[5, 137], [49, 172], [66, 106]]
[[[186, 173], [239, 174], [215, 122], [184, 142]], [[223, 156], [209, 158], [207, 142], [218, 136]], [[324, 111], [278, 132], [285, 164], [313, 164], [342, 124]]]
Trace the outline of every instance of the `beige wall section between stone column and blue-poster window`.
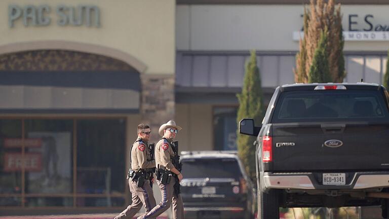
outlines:
[[213, 118], [210, 104], [176, 104], [177, 135], [180, 151], [213, 150]]

